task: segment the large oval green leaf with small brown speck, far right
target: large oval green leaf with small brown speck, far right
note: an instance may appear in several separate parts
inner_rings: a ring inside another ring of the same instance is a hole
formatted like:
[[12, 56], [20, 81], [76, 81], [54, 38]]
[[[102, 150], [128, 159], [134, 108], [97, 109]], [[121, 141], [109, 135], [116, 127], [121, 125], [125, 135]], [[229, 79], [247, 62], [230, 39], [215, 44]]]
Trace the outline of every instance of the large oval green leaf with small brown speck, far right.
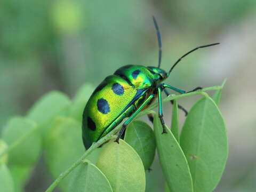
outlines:
[[194, 190], [212, 191], [225, 169], [228, 145], [223, 118], [211, 98], [202, 98], [190, 110], [180, 145], [189, 163]]

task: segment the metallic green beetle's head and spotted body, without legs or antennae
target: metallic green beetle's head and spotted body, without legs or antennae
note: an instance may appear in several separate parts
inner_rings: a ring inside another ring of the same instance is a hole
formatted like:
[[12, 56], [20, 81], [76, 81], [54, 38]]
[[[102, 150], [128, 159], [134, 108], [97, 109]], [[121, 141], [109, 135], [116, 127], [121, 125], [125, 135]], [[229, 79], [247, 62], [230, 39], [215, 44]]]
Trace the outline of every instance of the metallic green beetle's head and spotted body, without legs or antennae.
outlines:
[[114, 75], [106, 77], [84, 109], [84, 146], [89, 148], [125, 117], [130, 117], [150, 94], [157, 94], [156, 87], [166, 77], [167, 73], [162, 69], [135, 65], [121, 67]]

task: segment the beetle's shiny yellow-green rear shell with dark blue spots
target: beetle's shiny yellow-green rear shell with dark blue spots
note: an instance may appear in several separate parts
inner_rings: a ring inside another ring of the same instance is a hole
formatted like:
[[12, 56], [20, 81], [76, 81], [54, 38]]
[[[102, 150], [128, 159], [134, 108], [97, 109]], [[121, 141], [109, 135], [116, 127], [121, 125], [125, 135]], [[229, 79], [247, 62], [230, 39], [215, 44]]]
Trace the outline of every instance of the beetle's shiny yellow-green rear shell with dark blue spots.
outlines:
[[116, 75], [108, 76], [94, 90], [83, 113], [83, 142], [86, 148], [105, 135], [101, 134], [105, 127], [121, 114], [136, 93], [134, 86]]

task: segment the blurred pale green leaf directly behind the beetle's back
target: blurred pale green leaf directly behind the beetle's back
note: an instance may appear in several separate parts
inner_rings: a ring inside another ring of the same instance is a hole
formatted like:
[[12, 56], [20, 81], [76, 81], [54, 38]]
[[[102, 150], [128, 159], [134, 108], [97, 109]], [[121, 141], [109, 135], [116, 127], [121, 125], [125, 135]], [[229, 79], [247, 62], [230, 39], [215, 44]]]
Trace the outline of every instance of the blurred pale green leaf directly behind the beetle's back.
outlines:
[[70, 117], [73, 117], [79, 122], [82, 122], [82, 115], [86, 102], [93, 92], [91, 84], [84, 84], [75, 95], [74, 101], [69, 109]]

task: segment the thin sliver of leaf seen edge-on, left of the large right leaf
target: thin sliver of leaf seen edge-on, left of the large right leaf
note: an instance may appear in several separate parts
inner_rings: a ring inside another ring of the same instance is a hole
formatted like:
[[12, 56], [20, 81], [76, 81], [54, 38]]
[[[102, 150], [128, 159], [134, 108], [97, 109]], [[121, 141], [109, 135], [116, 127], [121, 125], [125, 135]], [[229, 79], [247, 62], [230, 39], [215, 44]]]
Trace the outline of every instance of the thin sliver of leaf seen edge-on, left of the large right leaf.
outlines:
[[171, 126], [172, 134], [175, 139], [180, 142], [180, 124], [179, 124], [179, 111], [178, 111], [178, 102], [177, 99], [174, 99], [173, 108], [172, 108], [172, 126]]

